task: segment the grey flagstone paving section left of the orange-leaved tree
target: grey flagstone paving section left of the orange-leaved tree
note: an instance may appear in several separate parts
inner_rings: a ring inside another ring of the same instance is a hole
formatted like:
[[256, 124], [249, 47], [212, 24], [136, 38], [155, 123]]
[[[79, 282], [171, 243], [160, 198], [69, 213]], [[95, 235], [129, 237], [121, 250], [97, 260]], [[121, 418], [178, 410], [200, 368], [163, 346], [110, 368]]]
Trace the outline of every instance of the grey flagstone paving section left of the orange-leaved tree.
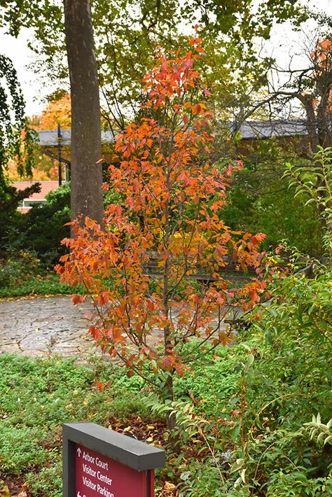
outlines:
[[74, 305], [67, 295], [0, 300], [0, 353], [84, 358], [92, 351], [88, 309], [90, 302]]

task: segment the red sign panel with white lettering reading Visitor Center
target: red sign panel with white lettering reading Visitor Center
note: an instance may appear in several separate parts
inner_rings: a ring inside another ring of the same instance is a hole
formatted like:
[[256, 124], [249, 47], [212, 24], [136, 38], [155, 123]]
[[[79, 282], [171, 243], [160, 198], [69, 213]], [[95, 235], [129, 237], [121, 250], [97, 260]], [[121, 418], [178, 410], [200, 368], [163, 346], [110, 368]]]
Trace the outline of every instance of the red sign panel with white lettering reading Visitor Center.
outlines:
[[[136, 471], [76, 444], [75, 497], [146, 497], [146, 471]], [[151, 471], [153, 475], [153, 470]], [[153, 477], [151, 478], [153, 479]], [[151, 482], [153, 496], [153, 482]]]

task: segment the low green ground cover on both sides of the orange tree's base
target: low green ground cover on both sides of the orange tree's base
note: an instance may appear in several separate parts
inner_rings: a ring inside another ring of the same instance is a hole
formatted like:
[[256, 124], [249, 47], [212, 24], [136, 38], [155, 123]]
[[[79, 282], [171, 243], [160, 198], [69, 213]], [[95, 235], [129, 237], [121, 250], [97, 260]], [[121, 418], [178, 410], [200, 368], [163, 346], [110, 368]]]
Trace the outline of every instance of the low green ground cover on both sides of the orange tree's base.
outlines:
[[[185, 402], [195, 398], [201, 411], [227, 416], [243, 354], [241, 346], [221, 348], [218, 360], [177, 379], [177, 397]], [[99, 391], [97, 380], [111, 385]], [[88, 420], [120, 431], [136, 423], [143, 440], [150, 436], [146, 427], [154, 423], [162, 440], [165, 426], [145, 407], [147, 393], [140, 377], [128, 378], [121, 367], [99, 358], [85, 366], [57, 357], [0, 354], [0, 495], [3, 479], [25, 484], [29, 497], [62, 496], [62, 423]], [[174, 481], [172, 465], [159, 476]]]

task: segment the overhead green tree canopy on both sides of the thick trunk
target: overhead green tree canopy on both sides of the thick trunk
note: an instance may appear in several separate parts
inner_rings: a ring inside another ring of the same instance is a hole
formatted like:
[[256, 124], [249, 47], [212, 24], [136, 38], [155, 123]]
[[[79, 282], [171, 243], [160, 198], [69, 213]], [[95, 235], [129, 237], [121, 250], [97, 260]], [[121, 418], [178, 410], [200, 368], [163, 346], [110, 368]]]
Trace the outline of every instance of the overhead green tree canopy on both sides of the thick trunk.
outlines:
[[[0, 26], [14, 36], [21, 27], [34, 29], [30, 46], [41, 56], [41, 71], [57, 78], [62, 86], [67, 62], [61, 3], [14, 0], [1, 4]], [[200, 36], [205, 39], [203, 77], [213, 83], [216, 102], [218, 95], [223, 97], [221, 111], [225, 102], [231, 111], [265, 82], [262, 67], [266, 69], [266, 61], [258, 60], [254, 38], [268, 38], [274, 22], [291, 19], [299, 25], [305, 17], [305, 10], [295, 0], [93, 0], [103, 116], [116, 130], [123, 129], [133, 115], [139, 117], [144, 99], [141, 78], [146, 68], [153, 66], [156, 46], [175, 48], [183, 31], [194, 25], [200, 26]]]

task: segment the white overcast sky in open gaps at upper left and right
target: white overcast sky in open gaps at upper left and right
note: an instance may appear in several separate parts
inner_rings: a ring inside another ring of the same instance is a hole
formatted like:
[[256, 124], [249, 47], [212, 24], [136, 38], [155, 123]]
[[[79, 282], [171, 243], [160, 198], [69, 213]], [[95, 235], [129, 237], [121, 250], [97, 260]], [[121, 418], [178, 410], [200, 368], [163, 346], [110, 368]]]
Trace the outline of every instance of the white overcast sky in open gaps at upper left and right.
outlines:
[[[311, 4], [312, 7], [310, 0], [303, 0], [303, 3]], [[314, 8], [332, 15], [332, 2], [330, 0], [315, 0]], [[306, 31], [308, 34], [310, 31], [314, 31], [314, 22], [307, 23]], [[29, 36], [31, 35], [27, 29], [23, 30], [17, 39], [0, 31], [0, 52], [11, 58], [16, 71], [18, 71], [18, 78], [27, 104], [27, 115], [32, 116], [43, 109], [46, 95], [54, 88], [52, 85], [45, 85], [45, 81], [41, 81], [40, 74], [35, 75], [32, 69], [27, 68], [34, 61], [34, 53], [27, 48]], [[282, 26], [277, 25], [272, 31], [271, 41], [266, 50], [269, 54], [273, 52], [279, 64], [283, 62], [286, 64], [288, 53], [294, 51], [294, 48], [299, 45], [301, 36], [303, 37], [303, 35], [292, 33], [290, 23]]]

